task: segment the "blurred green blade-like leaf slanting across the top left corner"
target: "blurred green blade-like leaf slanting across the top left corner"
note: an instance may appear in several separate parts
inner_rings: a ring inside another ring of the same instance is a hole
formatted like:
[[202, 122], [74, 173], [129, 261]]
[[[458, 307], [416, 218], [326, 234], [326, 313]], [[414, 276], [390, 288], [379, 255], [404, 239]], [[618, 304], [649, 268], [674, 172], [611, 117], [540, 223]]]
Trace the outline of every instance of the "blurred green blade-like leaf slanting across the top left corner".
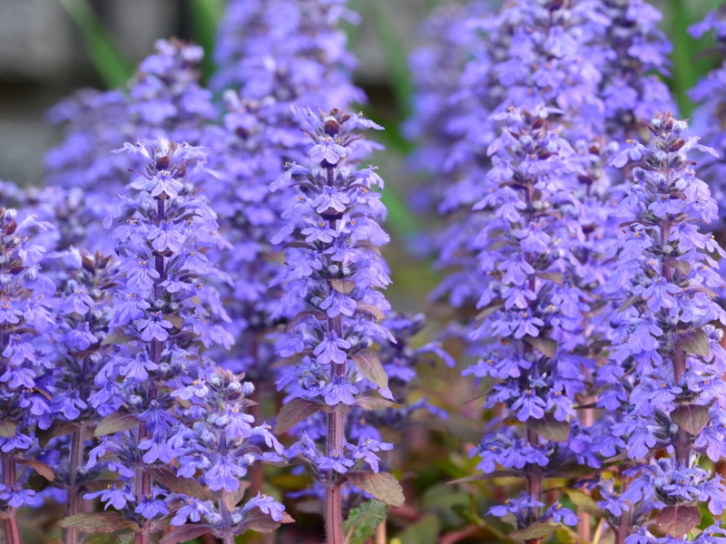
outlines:
[[131, 63], [93, 11], [88, 0], [58, 0], [81, 30], [86, 54], [108, 88], [121, 87], [132, 76]]

